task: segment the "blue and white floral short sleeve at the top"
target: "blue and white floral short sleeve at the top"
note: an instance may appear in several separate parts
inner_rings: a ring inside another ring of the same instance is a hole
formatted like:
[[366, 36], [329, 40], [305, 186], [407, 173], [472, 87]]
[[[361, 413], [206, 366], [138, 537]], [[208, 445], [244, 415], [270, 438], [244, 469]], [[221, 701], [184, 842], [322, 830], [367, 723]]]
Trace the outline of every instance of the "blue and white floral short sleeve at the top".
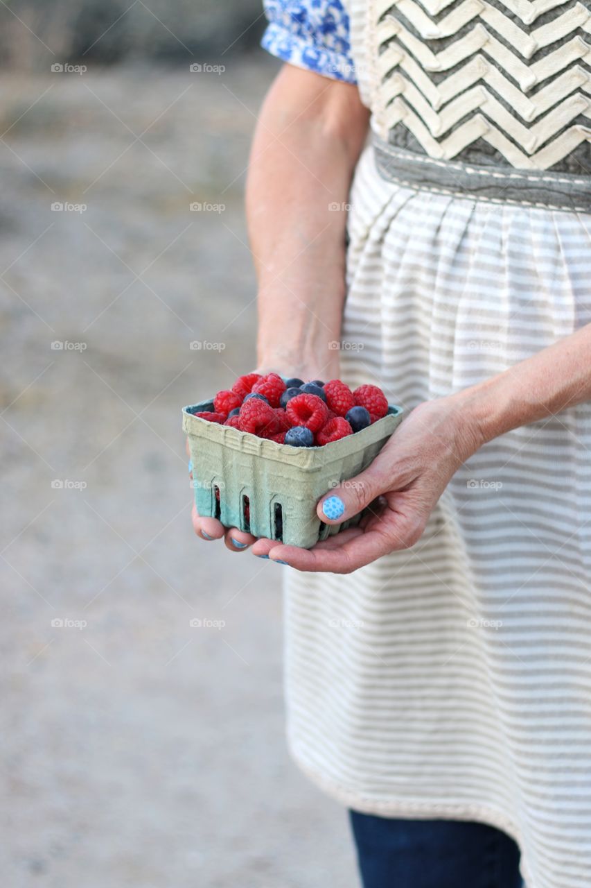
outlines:
[[357, 82], [342, 0], [264, 0], [264, 12], [265, 50], [325, 77]]

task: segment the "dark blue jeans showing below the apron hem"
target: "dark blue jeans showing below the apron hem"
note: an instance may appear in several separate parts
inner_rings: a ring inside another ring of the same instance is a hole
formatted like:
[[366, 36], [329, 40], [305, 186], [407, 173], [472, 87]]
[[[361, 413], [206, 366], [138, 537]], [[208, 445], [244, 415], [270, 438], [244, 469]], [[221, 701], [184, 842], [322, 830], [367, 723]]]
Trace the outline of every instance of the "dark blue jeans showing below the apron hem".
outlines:
[[519, 849], [499, 829], [350, 815], [363, 888], [522, 888]]

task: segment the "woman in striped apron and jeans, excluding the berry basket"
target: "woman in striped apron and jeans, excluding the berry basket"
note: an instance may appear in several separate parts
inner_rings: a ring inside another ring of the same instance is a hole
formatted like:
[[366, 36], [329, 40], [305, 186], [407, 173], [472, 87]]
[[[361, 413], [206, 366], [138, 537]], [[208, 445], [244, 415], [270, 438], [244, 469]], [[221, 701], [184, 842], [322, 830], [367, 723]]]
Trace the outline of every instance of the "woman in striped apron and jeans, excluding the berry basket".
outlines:
[[195, 530], [292, 568], [289, 744], [351, 809], [366, 888], [514, 888], [520, 853], [528, 888], [581, 888], [591, 0], [266, 10], [287, 64], [248, 173], [260, 369], [412, 413], [319, 502], [371, 503], [361, 527], [311, 551]]

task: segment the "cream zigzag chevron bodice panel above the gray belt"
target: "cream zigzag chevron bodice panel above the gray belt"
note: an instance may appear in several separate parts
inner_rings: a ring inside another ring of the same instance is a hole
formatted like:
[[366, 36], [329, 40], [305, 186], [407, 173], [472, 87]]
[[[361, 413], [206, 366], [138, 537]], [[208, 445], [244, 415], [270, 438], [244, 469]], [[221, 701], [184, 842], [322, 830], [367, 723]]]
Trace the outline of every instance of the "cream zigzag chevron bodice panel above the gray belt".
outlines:
[[382, 139], [438, 160], [478, 149], [522, 170], [591, 174], [591, 0], [369, 6]]

